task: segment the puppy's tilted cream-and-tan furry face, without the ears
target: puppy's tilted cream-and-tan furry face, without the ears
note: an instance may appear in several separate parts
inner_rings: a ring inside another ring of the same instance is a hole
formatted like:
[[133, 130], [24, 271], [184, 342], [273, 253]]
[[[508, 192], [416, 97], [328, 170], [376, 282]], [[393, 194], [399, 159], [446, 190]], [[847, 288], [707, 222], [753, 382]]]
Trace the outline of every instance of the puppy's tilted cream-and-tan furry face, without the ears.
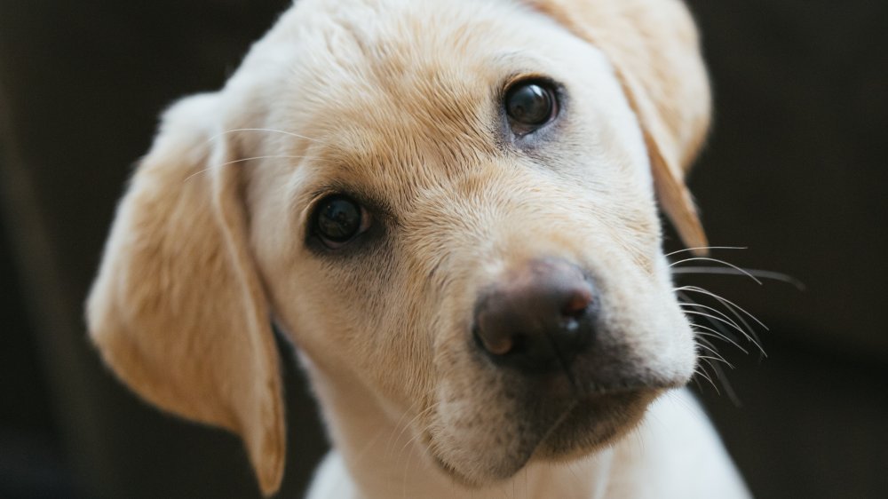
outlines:
[[[486, 483], [534, 452], [575, 454], [621, 432], [652, 389], [686, 382], [694, 350], [659, 254], [641, 132], [607, 59], [534, 12], [438, 8], [312, 36], [313, 60], [281, 100], [319, 104], [264, 125], [309, 139], [266, 137], [247, 153], [299, 156], [252, 169], [252, 249], [297, 345], [353, 369], [408, 419], [423, 414], [430, 454]], [[459, 19], [432, 29], [445, 15]], [[532, 131], [508, 111], [527, 86], [553, 107]], [[274, 186], [288, 188], [267, 195]], [[331, 203], [354, 211], [347, 242], [325, 241]], [[591, 282], [599, 313], [577, 333], [589, 345], [543, 372], [497, 362], [508, 355], [473, 334], [480, 301], [545, 260]]]

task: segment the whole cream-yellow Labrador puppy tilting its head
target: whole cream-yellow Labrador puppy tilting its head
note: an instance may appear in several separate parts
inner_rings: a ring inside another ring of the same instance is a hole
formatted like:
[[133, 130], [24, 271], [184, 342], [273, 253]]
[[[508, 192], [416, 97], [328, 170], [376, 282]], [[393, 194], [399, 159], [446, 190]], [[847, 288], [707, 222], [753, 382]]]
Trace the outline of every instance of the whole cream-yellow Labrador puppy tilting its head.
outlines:
[[274, 322], [335, 450], [308, 496], [744, 497], [685, 392], [657, 200], [709, 123], [677, 0], [299, 0], [163, 118], [88, 300], [160, 408], [238, 434], [266, 495]]

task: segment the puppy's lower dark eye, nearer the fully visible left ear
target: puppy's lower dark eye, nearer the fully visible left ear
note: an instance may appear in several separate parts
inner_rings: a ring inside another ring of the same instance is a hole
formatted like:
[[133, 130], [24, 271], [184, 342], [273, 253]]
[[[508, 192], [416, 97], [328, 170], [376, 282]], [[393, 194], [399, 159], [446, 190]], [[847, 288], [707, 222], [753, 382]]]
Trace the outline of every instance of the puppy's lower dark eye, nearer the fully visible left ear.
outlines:
[[369, 226], [369, 212], [342, 194], [325, 197], [314, 211], [313, 233], [330, 249], [342, 247]]

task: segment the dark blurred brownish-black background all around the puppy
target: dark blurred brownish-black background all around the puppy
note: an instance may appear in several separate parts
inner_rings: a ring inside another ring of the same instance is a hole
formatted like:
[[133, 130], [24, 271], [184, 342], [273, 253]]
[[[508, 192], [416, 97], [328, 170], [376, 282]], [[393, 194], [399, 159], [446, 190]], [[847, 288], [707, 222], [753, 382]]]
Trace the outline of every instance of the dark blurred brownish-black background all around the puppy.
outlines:
[[[0, 0], [0, 497], [258, 496], [234, 437], [107, 374], [81, 309], [156, 116], [287, 4]], [[888, 497], [888, 2], [689, 4], [717, 109], [691, 184], [711, 242], [748, 248], [716, 256], [805, 283], [679, 276], [770, 328], [699, 392], [757, 497]], [[291, 363], [287, 391], [297, 497], [325, 444]]]

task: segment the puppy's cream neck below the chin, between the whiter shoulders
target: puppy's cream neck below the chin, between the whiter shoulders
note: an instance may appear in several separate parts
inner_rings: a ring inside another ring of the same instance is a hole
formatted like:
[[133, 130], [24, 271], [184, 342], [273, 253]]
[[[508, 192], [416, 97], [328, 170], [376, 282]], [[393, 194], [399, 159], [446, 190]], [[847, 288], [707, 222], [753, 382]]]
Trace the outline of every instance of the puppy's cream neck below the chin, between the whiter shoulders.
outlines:
[[[458, 485], [432, 463], [423, 442], [410, 432], [413, 422], [407, 416], [386, 410], [384, 402], [359, 381], [345, 379], [342, 373], [327, 376], [311, 366], [310, 371], [338, 453], [329, 457], [325, 467], [345, 466], [353, 482], [349, 487], [353, 499], [594, 498], [605, 494], [614, 460], [610, 448], [571, 463], [528, 464], [511, 479], [490, 487], [470, 489]], [[325, 474], [321, 471], [317, 479]], [[338, 481], [343, 479], [337, 477]]]

